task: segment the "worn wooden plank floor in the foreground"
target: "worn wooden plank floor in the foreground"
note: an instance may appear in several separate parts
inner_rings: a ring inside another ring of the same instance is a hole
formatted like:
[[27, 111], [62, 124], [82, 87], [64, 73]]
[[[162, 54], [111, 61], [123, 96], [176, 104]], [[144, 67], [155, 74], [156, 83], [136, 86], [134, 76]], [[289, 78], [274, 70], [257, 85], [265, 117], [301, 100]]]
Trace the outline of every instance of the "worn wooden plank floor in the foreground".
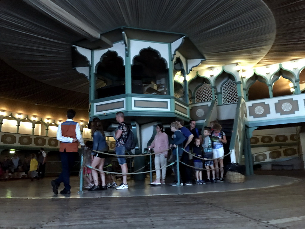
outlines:
[[298, 183], [243, 191], [116, 198], [0, 198], [0, 228], [305, 228]]

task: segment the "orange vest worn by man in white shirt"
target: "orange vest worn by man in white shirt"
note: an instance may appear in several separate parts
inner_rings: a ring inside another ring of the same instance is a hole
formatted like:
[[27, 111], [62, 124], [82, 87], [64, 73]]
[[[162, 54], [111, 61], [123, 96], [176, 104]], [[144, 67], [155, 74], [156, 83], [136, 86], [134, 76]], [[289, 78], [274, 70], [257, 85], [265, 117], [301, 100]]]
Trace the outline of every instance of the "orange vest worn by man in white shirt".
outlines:
[[[64, 137], [76, 138], [76, 124], [74, 121], [66, 121], [61, 124], [61, 134]], [[60, 142], [59, 151], [60, 152], [77, 152], [78, 151], [78, 141], [67, 143]]]

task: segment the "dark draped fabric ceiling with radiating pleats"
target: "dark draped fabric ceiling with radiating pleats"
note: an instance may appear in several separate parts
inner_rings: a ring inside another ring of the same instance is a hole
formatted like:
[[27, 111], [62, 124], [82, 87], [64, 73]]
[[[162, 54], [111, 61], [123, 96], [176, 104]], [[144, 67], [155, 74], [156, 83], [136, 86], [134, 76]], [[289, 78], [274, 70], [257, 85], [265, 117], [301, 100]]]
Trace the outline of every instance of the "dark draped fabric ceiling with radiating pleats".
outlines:
[[[32, 103], [41, 95], [42, 105], [88, 109], [88, 81], [72, 68], [71, 45], [121, 26], [186, 34], [206, 57], [197, 69], [304, 58], [304, 7], [296, 0], [2, 0], [0, 96]], [[16, 81], [23, 86], [12, 93]]]

